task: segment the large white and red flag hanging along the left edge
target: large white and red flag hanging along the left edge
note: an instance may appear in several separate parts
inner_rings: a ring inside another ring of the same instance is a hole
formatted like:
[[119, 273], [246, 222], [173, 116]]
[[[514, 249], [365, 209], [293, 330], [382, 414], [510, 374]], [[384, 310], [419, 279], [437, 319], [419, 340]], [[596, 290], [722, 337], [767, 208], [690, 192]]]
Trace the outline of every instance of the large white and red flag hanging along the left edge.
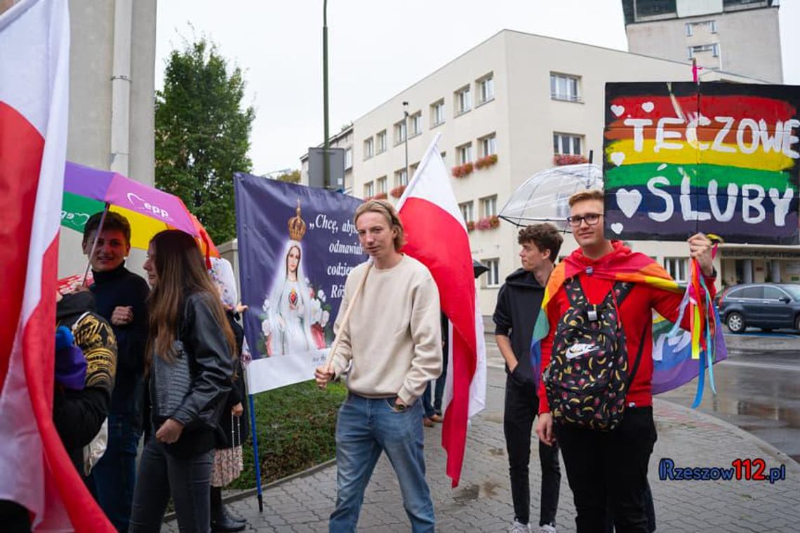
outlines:
[[55, 291], [67, 109], [67, 0], [0, 2], [0, 499], [34, 531], [114, 531], [55, 430]]

